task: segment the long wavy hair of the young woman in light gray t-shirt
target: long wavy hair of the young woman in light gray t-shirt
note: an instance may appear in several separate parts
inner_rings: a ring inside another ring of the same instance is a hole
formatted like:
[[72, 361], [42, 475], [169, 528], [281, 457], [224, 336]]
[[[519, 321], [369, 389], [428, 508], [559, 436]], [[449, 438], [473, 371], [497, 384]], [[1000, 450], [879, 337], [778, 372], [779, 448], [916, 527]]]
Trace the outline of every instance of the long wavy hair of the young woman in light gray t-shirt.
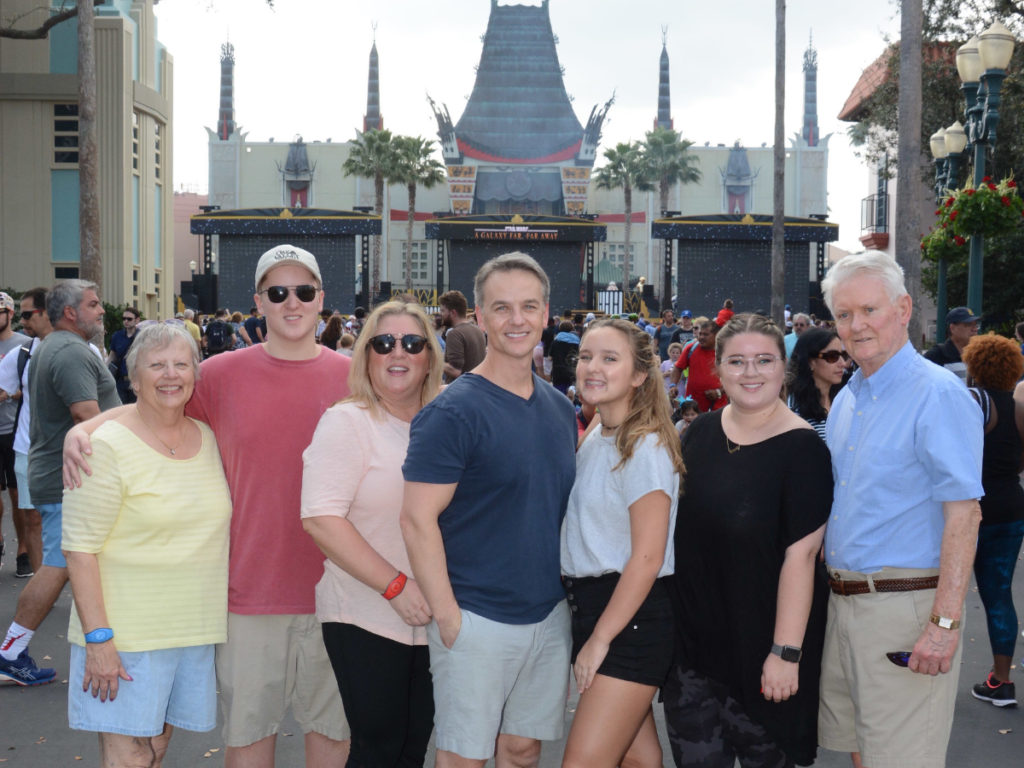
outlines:
[[679, 490], [682, 493], [682, 479], [686, 474], [683, 451], [679, 442], [679, 433], [672, 423], [672, 403], [665, 393], [650, 336], [621, 317], [604, 317], [591, 323], [587, 335], [601, 328], [612, 328], [623, 334], [633, 355], [634, 373], [647, 374], [643, 384], [633, 390], [629, 414], [615, 432], [615, 449], [621, 460], [612, 471], [624, 466], [633, 457], [633, 452], [640, 440], [648, 434], [654, 434], [657, 435], [658, 444], [663, 445], [672, 457], [672, 465], [679, 473]]

